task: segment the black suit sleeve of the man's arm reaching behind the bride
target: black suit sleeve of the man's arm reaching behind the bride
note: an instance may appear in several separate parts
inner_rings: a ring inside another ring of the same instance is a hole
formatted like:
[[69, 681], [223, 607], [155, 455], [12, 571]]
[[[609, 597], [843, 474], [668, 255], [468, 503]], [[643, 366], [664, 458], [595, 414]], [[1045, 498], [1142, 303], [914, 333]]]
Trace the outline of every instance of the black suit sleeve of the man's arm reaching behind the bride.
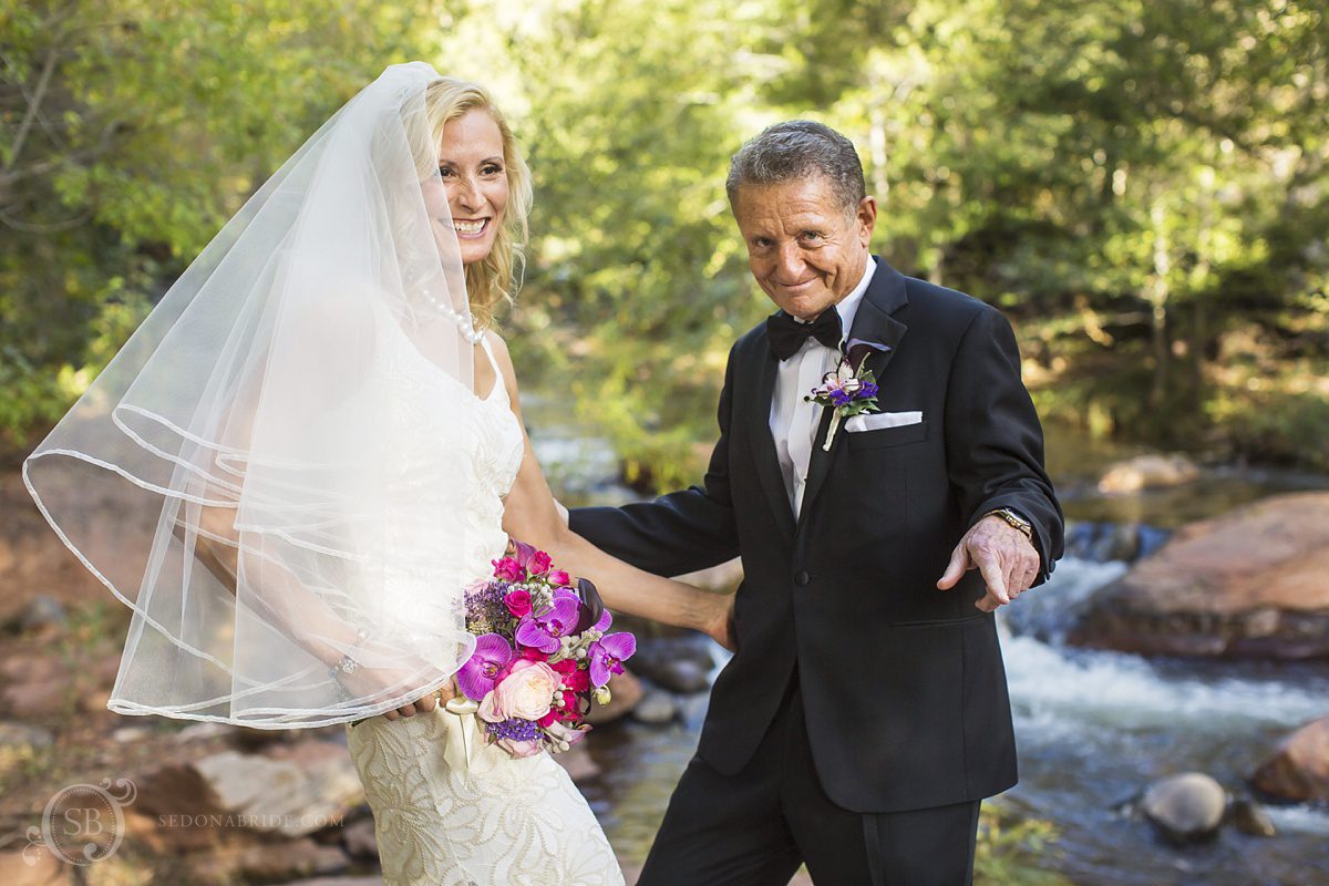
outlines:
[[682, 575], [739, 555], [730, 498], [730, 421], [735, 349], [730, 351], [716, 417], [720, 438], [702, 486], [623, 507], [578, 507], [570, 527], [609, 554], [657, 575]]

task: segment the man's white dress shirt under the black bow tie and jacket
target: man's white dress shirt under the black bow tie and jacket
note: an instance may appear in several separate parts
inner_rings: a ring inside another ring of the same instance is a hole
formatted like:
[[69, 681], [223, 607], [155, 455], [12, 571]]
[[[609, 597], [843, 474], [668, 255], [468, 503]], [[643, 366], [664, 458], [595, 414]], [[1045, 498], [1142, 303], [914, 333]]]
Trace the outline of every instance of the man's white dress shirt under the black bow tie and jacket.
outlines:
[[[868, 256], [868, 267], [863, 279], [849, 295], [840, 299], [835, 310], [840, 312], [840, 340], [844, 341], [853, 328], [853, 317], [859, 312], [863, 294], [877, 270], [877, 263]], [[771, 437], [775, 440], [775, 454], [780, 460], [784, 474], [784, 489], [789, 493], [789, 506], [793, 518], [799, 518], [803, 506], [803, 490], [808, 482], [808, 464], [812, 461], [812, 445], [821, 420], [823, 406], [804, 402], [803, 397], [821, 384], [821, 377], [835, 368], [839, 352], [809, 337], [803, 348], [788, 360], [781, 360], [775, 376], [775, 395], [771, 397]]]

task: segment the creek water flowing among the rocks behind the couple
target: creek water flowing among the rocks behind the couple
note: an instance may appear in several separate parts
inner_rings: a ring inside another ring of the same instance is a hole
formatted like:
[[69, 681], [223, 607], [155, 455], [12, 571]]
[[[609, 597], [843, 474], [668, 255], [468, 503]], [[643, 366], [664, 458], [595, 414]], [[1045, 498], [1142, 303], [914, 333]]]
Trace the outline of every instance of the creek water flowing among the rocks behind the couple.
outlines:
[[[560, 462], [563, 489], [597, 490], [613, 501], [623, 490], [602, 482], [613, 454], [601, 442], [570, 445], [546, 438], [542, 461]], [[1084, 477], [1120, 450], [1095, 450], [1071, 440], [1050, 469], [1059, 477], [1069, 517], [1174, 527], [1284, 489], [1325, 486], [1324, 478], [1252, 472], [1209, 472], [1177, 490], [1104, 498]], [[562, 446], [562, 453], [558, 448]], [[560, 454], [582, 460], [570, 465]], [[589, 458], [589, 461], [587, 461]], [[595, 482], [578, 482], [595, 477]], [[1146, 546], [1166, 531], [1146, 531]], [[1144, 659], [1073, 648], [1070, 626], [1094, 594], [1120, 576], [1123, 562], [1067, 557], [1053, 579], [1002, 610], [1001, 627], [1021, 781], [997, 802], [1046, 818], [1059, 829], [1039, 866], [1080, 886], [1329, 886], [1329, 809], [1267, 806], [1277, 836], [1248, 837], [1224, 828], [1216, 841], [1184, 849], [1162, 842], [1130, 814], [1151, 781], [1187, 770], [1207, 772], [1229, 792], [1278, 740], [1329, 715], [1329, 664], [1223, 663]], [[716, 664], [724, 652], [714, 647]], [[670, 727], [626, 723], [597, 731], [587, 744], [602, 774], [583, 785], [622, 857], [645, 857], [674, 781], [696, 747], [706, 699], [684, 700]]]

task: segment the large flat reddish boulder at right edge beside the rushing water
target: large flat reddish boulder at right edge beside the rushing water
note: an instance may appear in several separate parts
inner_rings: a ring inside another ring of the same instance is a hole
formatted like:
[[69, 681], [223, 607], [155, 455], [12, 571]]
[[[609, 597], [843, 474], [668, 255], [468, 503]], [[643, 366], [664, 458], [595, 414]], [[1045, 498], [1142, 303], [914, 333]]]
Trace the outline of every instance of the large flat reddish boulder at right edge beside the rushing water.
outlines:
[[1095, 596], [1070, 643], [1123, 652], [1329, 658], [1329, 493], [1191, 523]]

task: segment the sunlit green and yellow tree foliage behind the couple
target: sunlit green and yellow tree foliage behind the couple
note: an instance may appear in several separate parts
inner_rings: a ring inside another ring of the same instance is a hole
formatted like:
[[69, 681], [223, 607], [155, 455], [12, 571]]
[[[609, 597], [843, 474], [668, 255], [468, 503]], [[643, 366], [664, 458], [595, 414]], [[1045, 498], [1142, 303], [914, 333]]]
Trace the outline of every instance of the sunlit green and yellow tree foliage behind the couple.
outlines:
[[789, 117], [860, 146], [892, 264], [1017, 320], [1051, 413], [1324, 464], [1322, 4], [0, 0], [0, 28], [12, 445], [318, 122], [423, 57], [494, 89], [536, 175], [526, 385], [643, 486], [696, 480], [728, 345], [768, 311], [723, 178]]

